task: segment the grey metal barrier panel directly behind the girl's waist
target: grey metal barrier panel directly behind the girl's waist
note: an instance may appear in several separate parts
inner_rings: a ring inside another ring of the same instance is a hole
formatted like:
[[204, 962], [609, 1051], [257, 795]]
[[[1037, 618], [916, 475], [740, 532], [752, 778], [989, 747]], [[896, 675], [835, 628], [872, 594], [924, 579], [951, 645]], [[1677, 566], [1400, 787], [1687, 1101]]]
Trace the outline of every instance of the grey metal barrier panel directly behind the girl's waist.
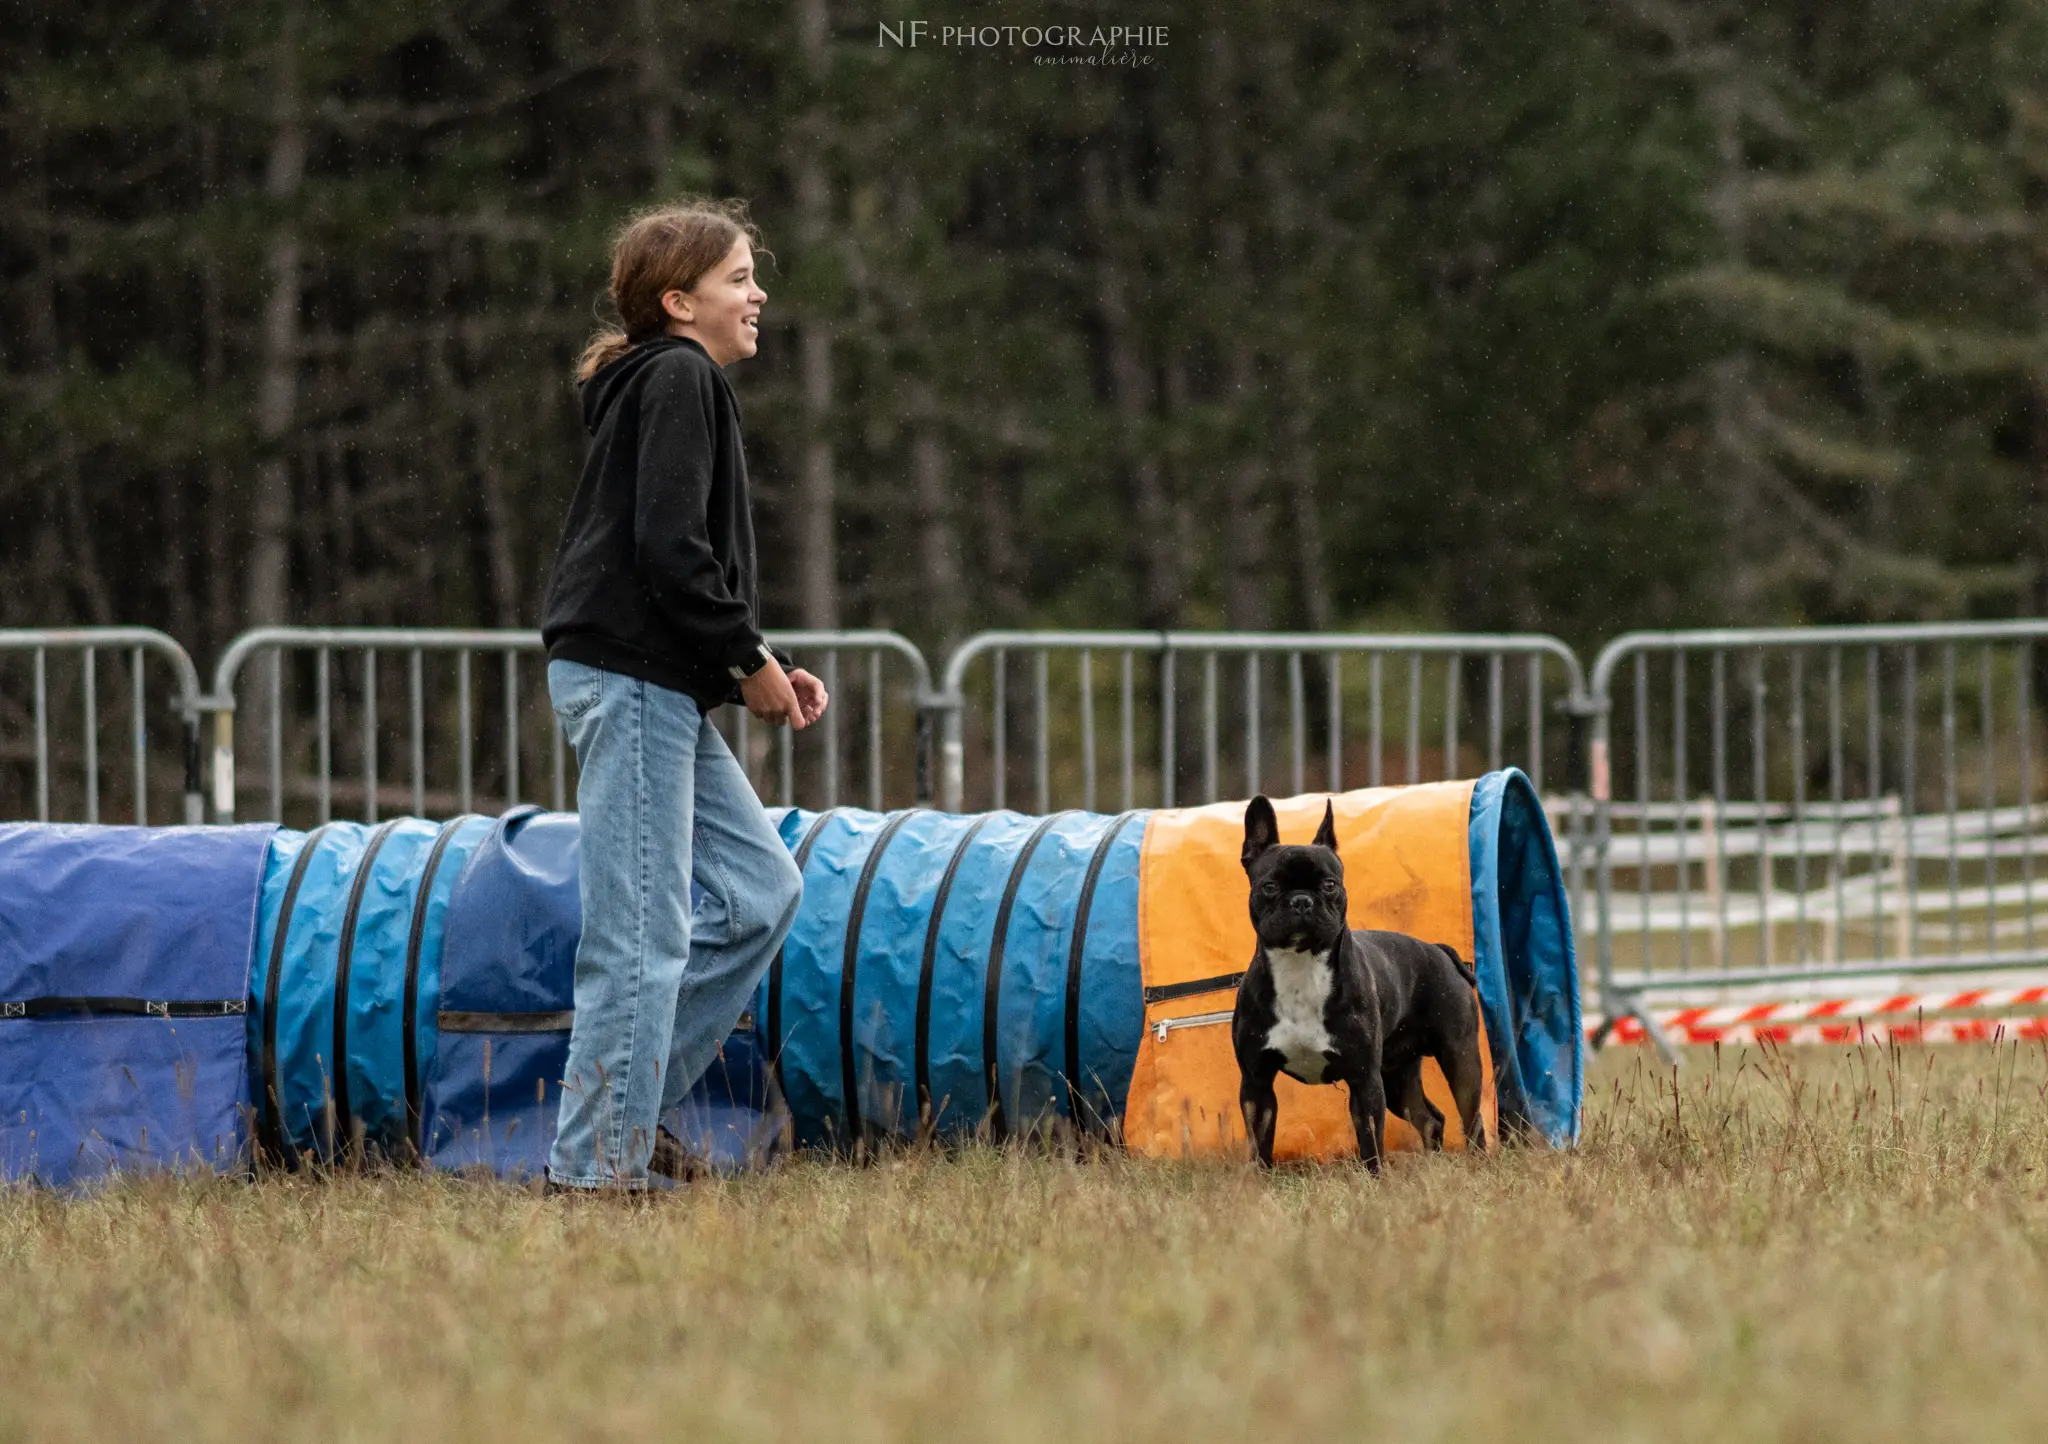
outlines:
[[[881, 807], [887, 797], [920, 787], [926, 768], [915, 758], [909, 768], [891, 768], [891, 756], [911, 754], [893, 754], [887, 739], [899, 729], [920, 729], [918, 709], [930, 692], [924, 655], [891, 631], [768, 635], [823, 678], [834, 707], [801, 735], [754, 725], [737, 707], [715, 713], [756, 789], [784, 803], [803, 795], [831, 807], [864, 782], [868, 805]], [[842, 657], [856, 666], [842, 668]], [[889, 657], [907, 668], [907, 686], [887, 686]], [[573, 758], [547, 700], [545, 666], [541, 637], [530, 631], [244, 633], [221, 655], [213, 694], [203, 698], [213, 713], [215, 817], [231, 821], [250, 791], [266, 795], [266, 817], [274, 819], [293, 805], [303, 805], [315, 821], [334, 817], [336, 807], [375, 821], [385, 807], [436, 815], [471, 811], [479, 797], [512, 807], [528, 795], [565, 809], [573, 799]], [[498, 713], [494, 725], [479, 723], [483, 688], [498, 694], [489, 705]], [[403, 698], [403, 709], [387, 707], [385, 698]], [[238, 715], [246, 719], [240, 725]], [[848, 731], [862, 737], [854, 750], [864, 756], [846, 756]], [[242, 776], [252, 756], [264, 766], [256, 789]], [[856, 774], [848, 762], [864, 766]]]

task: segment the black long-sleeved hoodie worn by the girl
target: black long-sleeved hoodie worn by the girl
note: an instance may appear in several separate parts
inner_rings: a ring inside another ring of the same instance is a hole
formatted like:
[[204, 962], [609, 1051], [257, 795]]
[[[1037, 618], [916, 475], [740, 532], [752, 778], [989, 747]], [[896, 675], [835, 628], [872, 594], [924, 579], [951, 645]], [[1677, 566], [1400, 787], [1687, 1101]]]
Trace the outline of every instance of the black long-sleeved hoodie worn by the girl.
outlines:
[[735, 700], [731, 668], [760, 664], [762, 635], [725, 371], [694, 340], [662, 336], [602, 367], [582, 397], [590, 451], [547, 588], [547, 655], [688, 692], [705, 711]]

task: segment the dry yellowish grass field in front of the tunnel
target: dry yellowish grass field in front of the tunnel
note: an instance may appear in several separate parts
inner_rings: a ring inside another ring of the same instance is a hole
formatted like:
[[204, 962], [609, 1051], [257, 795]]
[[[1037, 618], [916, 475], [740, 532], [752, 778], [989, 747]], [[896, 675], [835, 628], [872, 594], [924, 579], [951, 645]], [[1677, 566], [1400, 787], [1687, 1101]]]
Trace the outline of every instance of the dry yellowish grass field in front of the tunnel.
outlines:
[[0, 1438], [1997, 1440], [2048, 1057], [1604, 1055], [1573, 1153], [905, 1153], [647, 1206], [0, 1194]]

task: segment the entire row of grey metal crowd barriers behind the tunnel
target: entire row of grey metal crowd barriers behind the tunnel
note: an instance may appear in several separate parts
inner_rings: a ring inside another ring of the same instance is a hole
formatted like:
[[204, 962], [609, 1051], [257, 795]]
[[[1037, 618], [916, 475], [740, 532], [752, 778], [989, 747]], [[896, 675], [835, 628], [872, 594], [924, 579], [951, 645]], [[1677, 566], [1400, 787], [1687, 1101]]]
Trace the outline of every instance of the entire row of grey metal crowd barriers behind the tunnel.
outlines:
[[[1608, 1018], [1677, 991], [2048, 967], [2048, 619], [1630, 633], [1589, 680], [1536, 635], [1004, 631], [934, 690], [897, 633], [774, 639], [834, 707], [799, 735], [721, 709], [772, 801], [1108, 809], [1520, 764]], [[526, 631], [287, 627], [238, 637], [203, 694], [160, 631], [0, 631], [0, 815], [199, 821], [207, 713], [219, 821], [565, 807], [543, 670]]]

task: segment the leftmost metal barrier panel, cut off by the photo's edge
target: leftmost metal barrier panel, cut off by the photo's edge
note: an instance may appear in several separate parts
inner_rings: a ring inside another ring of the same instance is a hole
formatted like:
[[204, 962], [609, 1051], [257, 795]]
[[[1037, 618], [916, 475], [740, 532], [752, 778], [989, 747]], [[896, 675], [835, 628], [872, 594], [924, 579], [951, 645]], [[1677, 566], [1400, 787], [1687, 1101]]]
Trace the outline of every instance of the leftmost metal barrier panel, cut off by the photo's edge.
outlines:
[[[51, 653], [59, 657], [55, 668]], [[170, 694], [158, 692], [156, 700], [150, 688], [152, 660], [166, 666], [172, 680]], [[37, 821], [53, 815], [100, 821], [102, 805], [125, 801], [123, 811], [133, 821], [147, 823], [152, 754], [158, 754], [160, 774], [164, 760], [180, 764], [182, 819], [205, 821], [199, 670], [184, 647], [152, 627], [0, 631], [0, 668], [14, 670], [23, 664], [27, 705], [12, 700], [18, 696], [12, 688], [0, 686], [0, 815], [33, 811]], [[100, 703], [102, 666], [117, 670], [109, 705]], [[53, 741], [51, 719], [57, 715], [76, 717], [78, 729], [63, 727]], [[102, 733], [111, 727], [121, 729], [119, 739], [102, 750]], [[160, 746], [166, 733], [176, 739], [170, 748]], [[117, 762], [123, 744], [125, 768]]]

